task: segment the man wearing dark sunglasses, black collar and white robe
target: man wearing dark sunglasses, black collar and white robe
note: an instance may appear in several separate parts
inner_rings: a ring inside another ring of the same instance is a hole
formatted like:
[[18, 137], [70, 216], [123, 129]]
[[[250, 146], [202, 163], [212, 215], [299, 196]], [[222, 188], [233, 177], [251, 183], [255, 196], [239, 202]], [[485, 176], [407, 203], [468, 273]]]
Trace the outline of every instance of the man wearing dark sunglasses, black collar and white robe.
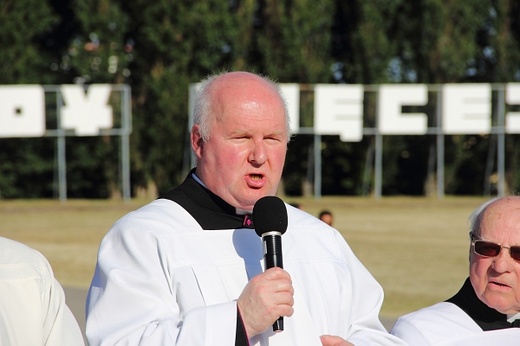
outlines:
[[520, 344], [520, 196], [469, 218], [469, 278], [446, 302], [405, 315], [391, 333], [410, 345]]

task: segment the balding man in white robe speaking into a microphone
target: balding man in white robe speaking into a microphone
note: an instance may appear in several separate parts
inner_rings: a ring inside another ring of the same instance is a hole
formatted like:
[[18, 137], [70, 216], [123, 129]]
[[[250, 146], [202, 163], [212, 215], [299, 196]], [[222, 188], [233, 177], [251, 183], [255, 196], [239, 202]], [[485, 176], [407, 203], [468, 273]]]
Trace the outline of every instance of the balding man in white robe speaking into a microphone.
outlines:
[[[343, 237], [285, 203], [284, 269], [263, 270], [249, 218], [280, 183], [289, 121], [279, 87], [214, 75], [195, 100], [197, 167], [103, 239], [87, 298], [97, 345], [403, 345], [379, 321], [383, 290]], [[272, 325], [283, 316], [284, 330]]]

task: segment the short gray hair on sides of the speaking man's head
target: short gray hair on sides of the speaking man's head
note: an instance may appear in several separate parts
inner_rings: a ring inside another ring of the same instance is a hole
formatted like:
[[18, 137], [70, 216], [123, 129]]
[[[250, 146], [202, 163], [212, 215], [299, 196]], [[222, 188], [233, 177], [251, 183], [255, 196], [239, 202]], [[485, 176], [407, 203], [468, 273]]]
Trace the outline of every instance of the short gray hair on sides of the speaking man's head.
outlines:
[[[228, 72], [219, 72], [210, 75], [203, 79], [198, 85], [198, 90], [194, 99], [193, 123], [199, 125], [200, 135], [204, 142], [208, 141], [209, 136], [211, 134], [211, 116], [213, 115], [213, 100], [211, 98], [212, 86], [213, 83], [218, 79], [218, 77], [226, 73]], [[264, 81], [273, 86], [278, 96], [280, 96], [280, 99], [283, 103], [285, 122], [287, 126], [287, 139], [289, 140], [291, 138], [289, 112], [287, 111], [287, 102], [285, 100], [285, 97], [283, 96], [280, 86], [267, 76], [262, 76], [258, 74], [255, 75], [262, 78]]]

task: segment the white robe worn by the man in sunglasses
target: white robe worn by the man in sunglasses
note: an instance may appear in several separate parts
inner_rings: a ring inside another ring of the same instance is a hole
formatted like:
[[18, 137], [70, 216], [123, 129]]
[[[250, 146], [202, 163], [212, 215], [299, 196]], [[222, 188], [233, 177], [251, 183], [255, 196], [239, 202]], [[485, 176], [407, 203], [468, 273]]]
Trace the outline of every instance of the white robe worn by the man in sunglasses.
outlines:
[[517, 346], [520, 328], [483, 331], [452, 303], [437, 303], [400, 317], [391, 333], [412, 346]]

